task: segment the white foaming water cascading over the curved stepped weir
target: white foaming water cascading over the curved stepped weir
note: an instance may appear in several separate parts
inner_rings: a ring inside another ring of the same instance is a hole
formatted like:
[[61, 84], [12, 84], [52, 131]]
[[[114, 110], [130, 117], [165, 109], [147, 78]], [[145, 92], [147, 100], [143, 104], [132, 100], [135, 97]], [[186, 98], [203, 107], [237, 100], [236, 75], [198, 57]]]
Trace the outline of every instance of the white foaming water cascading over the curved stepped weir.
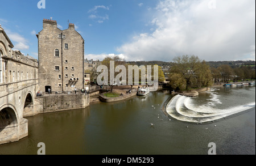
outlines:
[[193, 98], [185, 97], [181, 95], [176, 95], [167, 104], [166, 111], [173, 118], [186, 121], [186, 122], [210, 122], [213, 120], [219, 120], [233, 114], [237, 114], [255, 107], [255, 102], [247, 103], [244, 105], [238, 105], [234, 107], [229, 107], [225, 109], [214, 108], [216, 104], [222, 104], [217, 95], [216, 89], [209, 91], [210, 93], [210, 103], [205, 105], [194, 104]]

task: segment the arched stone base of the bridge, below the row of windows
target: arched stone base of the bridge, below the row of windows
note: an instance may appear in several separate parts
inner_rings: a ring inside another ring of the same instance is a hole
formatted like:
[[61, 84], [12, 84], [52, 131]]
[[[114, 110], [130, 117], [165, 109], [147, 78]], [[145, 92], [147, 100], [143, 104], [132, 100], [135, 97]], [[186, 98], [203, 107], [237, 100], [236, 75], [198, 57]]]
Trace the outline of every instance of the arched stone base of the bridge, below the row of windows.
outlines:
[[18, 141], [28, 135], [24, 118], [40, 111], [35, 101], [38, 79], [0, 85], [0, 144]]

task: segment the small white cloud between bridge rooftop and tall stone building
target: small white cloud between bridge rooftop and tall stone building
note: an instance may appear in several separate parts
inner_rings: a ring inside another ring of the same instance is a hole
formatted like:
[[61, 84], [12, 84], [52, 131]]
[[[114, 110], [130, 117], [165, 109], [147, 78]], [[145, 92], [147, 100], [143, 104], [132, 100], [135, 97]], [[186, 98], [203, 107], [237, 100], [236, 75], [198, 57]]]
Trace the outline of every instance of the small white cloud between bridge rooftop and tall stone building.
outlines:
[[10, 37], [11, 41], [14, 42], [14, 48], [18, 50], [26, 50], [29, 49], [30, 46], [27, 45], [27, 39], [25, 39], [23, 36], [19, 35], [19, 33], [13, 33], [9, 31], [8, 29], [5, 30], [7, 35]]

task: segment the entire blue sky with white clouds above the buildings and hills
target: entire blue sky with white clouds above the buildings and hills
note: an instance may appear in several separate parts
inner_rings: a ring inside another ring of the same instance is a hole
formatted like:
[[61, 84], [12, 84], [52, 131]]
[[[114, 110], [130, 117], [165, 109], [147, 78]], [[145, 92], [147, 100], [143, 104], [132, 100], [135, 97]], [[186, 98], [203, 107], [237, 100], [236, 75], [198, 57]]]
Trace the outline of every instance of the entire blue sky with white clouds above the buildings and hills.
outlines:
[[253, 0], [1, 0], [0, 24], [15, 48], [38, 58], [43, 19], [68, 20], [85, 39], [85, 57], [118, 54], [128, 61], [255, 60]]

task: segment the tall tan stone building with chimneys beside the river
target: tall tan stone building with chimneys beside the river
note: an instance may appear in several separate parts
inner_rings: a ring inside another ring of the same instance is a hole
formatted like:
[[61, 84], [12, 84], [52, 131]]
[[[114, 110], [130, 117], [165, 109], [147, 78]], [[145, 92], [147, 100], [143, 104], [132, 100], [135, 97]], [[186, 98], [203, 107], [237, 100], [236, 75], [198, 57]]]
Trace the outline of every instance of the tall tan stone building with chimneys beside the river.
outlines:
[[75, 30], [57, 28], [55, 20], [43, 20], [38, 37], [39, 90], [73, 91], [84, 88], [84, 39]]

